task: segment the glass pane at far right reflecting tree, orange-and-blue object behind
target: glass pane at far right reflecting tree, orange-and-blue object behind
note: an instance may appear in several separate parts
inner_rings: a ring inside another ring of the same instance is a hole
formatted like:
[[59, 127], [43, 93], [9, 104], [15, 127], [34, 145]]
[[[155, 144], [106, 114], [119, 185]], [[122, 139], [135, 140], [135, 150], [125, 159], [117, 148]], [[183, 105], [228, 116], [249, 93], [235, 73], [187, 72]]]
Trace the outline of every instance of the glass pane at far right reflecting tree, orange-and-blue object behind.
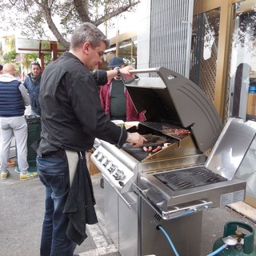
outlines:
[[256, 3], [247, 0], [233, 5], [230, 67], [227, 82], [228, 117], [256, 116]]

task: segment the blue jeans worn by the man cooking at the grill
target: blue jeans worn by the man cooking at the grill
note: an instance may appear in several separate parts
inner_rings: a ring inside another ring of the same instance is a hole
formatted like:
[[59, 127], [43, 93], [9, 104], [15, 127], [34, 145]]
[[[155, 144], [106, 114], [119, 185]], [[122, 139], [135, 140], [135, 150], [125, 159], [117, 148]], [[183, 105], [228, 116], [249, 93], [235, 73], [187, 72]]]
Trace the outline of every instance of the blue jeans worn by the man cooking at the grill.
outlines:
[[38, 176], [46, 186], [46, 212], [42, 224], [41, 256], [71, 256], [76, 244], [66, 236], [69, 218], [63, 214], [69, 193], [66, 160], [58, 157], [37, 157]]

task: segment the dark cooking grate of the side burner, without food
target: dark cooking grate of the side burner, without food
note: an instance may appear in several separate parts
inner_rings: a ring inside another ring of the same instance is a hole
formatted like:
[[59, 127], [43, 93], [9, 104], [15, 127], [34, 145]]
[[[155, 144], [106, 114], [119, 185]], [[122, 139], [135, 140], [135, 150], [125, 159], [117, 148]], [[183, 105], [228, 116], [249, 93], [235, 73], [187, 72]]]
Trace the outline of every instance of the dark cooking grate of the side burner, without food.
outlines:
[[193, 167], [186, 170], [170, 171], [163, 174], [154, 174], [161, 182], [169, 186], [171, 190], [185, 190], [193, 187], [209, 185], [217, 182], [225, 182], [227, 179], [206, 167]]

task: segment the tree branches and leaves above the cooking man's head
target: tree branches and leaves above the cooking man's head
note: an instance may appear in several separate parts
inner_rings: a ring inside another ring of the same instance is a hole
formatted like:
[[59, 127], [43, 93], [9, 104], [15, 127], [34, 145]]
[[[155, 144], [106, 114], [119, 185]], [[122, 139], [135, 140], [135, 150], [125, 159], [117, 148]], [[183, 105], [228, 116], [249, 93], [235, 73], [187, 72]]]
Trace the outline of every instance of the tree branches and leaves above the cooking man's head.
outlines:
[[[106, 24], [111, 18], [133, 11], [139, 2], [140, 0], [2, 0], [0, 17], [5, 22], [0, 24], [0, 30], [19, 29], [28, 38], [34, 38], [35, 34], [42, 38], [49, 34], [48, 26], [58, 42], [68, 49], [70, 34], [82, 22], [91, 22], [95, 26]], [[113, 24], [109, 22], [108, 25]]]

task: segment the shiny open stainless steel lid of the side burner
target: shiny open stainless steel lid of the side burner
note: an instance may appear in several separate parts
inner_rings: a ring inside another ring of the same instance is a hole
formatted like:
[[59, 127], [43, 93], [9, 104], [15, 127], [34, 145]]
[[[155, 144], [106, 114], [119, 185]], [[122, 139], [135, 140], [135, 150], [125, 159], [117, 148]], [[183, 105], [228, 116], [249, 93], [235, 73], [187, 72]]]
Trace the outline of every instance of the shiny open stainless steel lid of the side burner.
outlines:
[[228, 180], [233, 179], [255, 134], [256, 122], [229, 118], [206, 161], [206, 168]]

